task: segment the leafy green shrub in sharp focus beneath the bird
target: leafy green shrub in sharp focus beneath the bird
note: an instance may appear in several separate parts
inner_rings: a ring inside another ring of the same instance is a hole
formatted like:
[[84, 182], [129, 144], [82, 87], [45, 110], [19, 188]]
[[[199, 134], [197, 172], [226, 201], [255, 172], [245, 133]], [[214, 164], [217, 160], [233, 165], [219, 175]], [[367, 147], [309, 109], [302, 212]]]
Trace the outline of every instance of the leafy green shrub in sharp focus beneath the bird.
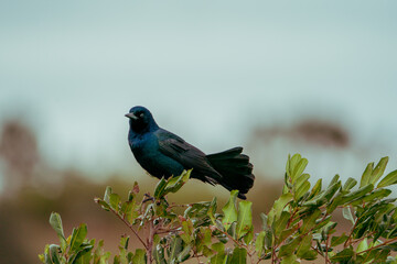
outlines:
[[[95, 201], [114, 213], [140, 241], [129, 250], [129, 237], [121, 237], [119, 252], [110, 258], [104, 241], [86, 239], [81, 224], [65, 237], [60, 215], [50, 223], [60, 244], [46, 245], [40, 260], [58, 263], [182, 263], [189, 258], [208, 263], [300, 263], [322, 258], [324, 263], [397, 263], [397, 210], [395, 198], [387, 198], [397, 184], [397, 170], [382, 177], [388, 162], [380, 158], [365, 168], [358, 187], [348, 178], [344, 184], [335, 175], [326, 188], [319, 179], [310, 188], [308, 164], [299, 154], [288, 157], [282, 194], [270, 211], [260, 218], [262, 227], [254, 233], [251, 202], [237, 202], [233, 190], [222, 213], [216, 198], [189, 205], [170, 205], [167, 195], [176, 193], [190, 177], [190, 170], [168, 180], [161, 179], [154, 195], [139, 194], [135, 183], [126, 201], [106, 188], [104, 199]], [[351, 223], [347, 232], [336, 232], [334, 212], [340, 208]]]

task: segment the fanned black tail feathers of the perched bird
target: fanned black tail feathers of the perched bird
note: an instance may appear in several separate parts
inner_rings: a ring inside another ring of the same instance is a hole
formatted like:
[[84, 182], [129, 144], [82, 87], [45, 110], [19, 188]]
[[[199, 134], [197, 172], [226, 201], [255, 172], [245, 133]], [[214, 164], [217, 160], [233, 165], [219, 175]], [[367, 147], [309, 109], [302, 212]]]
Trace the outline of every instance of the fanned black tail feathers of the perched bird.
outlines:
[[245, 194], [253, 187], [255, 176], [249, 157], [242, 154], [243, 147], [207, 155], [211, 165], [222, 175], [219, 184], [228, 190], [238, 190], [238, 198], [246, 199]]

